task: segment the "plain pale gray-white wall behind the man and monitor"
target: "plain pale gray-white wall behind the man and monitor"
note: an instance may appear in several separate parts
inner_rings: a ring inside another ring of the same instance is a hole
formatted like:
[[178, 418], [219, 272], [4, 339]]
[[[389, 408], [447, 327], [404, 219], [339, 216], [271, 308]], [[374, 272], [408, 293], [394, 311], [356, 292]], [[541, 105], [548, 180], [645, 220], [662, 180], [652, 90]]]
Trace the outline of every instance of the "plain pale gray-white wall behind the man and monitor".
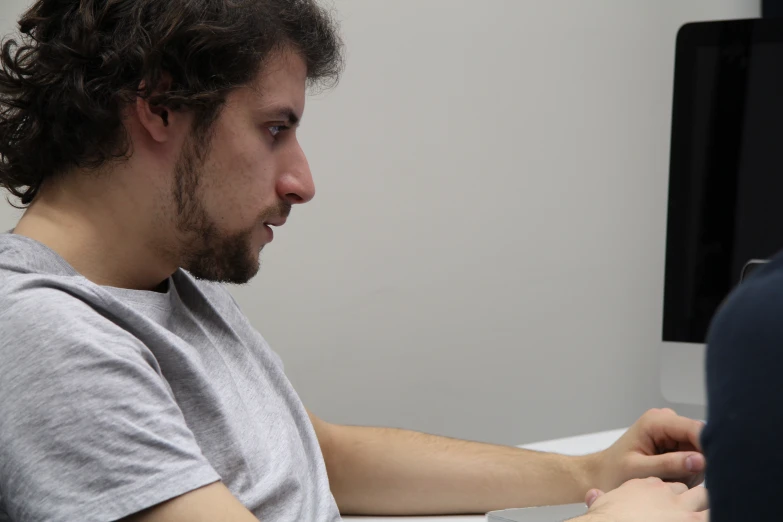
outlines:
[[301, 129], [318, 196], [234, 291], [308, 407], [520, 443], [663, 405], [674, 38], [758, 0], [335, 7], [348, 69]]

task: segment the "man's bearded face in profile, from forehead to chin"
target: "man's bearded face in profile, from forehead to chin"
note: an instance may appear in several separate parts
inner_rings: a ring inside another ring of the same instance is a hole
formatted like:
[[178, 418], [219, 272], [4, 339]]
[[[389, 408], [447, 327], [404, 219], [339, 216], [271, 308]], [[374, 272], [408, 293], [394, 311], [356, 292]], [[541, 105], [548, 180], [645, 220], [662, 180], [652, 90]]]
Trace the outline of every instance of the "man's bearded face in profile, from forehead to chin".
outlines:
[[265, 62], [231, 92], [204, 139], [188, 137], [170, 196], [180, 266], [210, 281], [246, 283], [259, 269], [270, 227], [315, 195], [296, 137], [307, 68], [291, 51]]

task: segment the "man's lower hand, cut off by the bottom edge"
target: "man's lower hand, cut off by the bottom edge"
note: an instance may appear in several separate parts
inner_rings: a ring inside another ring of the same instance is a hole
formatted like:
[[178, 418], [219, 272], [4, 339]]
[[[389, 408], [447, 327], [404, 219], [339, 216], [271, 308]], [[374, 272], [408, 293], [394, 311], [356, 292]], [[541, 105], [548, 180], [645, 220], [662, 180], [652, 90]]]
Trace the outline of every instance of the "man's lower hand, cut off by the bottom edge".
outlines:
[[[585, 497], [590, 508], [576, 520], [600, 522], [707, 522], [707, 490], [688, 489], [679, 482], [658, 478], [635, 479], [604, 494], [590, 490]], [[575, 520], [575, 522], [576, 522]]]

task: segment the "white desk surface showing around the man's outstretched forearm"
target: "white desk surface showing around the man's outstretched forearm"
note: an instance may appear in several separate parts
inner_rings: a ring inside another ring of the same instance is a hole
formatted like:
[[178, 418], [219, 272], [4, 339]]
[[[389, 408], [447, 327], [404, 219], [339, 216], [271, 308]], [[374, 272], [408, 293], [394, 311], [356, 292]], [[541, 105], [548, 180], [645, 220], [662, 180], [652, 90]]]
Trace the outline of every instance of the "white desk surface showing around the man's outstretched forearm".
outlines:
[[[576, 437], [537, 442], [535, 444], [525, 444], [520, 447], [536, 451], [562, 453], [564, 455], [587, 455], [588, 453], [595, 453], [596, 451], [608, 448], [619, 439], [623, 433], [625, 433], [625, 429], [603, 431], [600, 433], [590, 433]], [[484, 515], [452, 515], [446, 517], [345, 517], [345, 520], [351, 522], [486, 522], [486, 517]]]

